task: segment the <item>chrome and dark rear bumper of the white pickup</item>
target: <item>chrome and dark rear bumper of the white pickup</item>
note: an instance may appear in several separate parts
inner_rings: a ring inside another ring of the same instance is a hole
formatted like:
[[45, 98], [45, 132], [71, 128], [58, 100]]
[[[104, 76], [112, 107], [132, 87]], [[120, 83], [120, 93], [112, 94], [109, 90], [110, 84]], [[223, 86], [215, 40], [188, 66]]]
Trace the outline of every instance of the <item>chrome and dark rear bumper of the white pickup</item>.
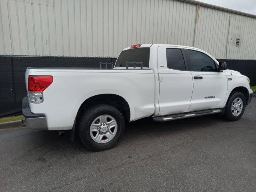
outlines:
[[48, 130], [46, 116], [31, 112], [28, 105], [28, 97], [24, 97], [22, 100], [22, 123], [31, 129]]

